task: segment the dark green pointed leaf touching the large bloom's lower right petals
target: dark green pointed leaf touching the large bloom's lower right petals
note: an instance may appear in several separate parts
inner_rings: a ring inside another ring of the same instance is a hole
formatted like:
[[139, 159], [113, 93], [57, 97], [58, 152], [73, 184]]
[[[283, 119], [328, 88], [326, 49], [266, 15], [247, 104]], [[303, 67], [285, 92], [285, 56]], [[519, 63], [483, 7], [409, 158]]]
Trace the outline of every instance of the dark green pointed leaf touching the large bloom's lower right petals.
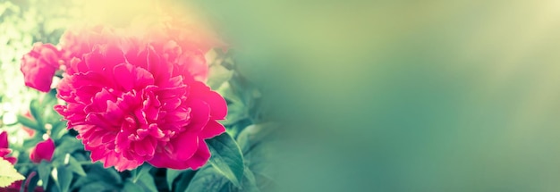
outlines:
[[223, 133], [208, 139], [207, 143], [212, 154], [208, 162], [239, 188], [245, 167], [242, 151], [235, 140], [229, 134]]

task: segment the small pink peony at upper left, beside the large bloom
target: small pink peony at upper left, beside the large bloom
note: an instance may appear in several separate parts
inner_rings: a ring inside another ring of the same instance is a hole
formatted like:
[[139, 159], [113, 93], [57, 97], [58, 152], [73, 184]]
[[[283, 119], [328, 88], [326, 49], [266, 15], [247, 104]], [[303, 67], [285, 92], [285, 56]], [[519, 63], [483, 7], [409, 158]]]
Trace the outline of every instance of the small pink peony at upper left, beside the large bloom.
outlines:
[[48, 92], [55, 71], [60, 68], [61, 52], [51, 44], [35, 43], [30, 53], [21, 58], [21, 72], [25, 85]]

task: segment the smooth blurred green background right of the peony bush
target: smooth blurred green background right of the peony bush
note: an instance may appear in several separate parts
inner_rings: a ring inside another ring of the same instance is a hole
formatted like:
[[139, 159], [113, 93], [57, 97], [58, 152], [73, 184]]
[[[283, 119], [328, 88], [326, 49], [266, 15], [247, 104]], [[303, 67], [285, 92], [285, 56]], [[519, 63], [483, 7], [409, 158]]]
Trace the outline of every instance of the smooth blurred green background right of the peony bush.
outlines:
[[281, 191], [560, 191], [557, 1], [166, 2], [215, 23], [284, 122]]

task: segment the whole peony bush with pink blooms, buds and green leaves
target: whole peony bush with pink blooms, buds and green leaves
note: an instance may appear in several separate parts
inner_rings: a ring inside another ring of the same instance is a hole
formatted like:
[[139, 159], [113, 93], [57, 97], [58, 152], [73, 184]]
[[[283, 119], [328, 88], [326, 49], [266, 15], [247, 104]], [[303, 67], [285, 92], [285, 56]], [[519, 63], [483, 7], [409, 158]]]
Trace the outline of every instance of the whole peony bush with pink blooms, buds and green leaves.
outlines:
[[0, 123], [9, 170], [0, 191], [274, 188], [263, 141], [275, 126], [257, 113], [259, 89], [233, 53], [174, 19], [35, 42], [19, 68], [37, 97], [15, 123]]

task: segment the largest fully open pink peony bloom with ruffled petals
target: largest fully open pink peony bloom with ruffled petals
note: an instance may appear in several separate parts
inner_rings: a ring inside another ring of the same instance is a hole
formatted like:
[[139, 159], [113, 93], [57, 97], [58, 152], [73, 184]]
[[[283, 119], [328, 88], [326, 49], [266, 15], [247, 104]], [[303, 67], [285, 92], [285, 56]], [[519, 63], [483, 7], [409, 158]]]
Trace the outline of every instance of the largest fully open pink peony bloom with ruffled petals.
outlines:
[[55, 110], [78, 131], [93, 162], [117, 171], [144, 162], [196, 170], [210, 157], [204, 139], [225, 131], [217, 122], [227, 113], [224, 98], [190, 70], [205, 61], [169, 59], [200, 50], [154, 44], [104, 39], [91, 53], [73, 58], [58, 85], [58, 97], [66, 104]]

